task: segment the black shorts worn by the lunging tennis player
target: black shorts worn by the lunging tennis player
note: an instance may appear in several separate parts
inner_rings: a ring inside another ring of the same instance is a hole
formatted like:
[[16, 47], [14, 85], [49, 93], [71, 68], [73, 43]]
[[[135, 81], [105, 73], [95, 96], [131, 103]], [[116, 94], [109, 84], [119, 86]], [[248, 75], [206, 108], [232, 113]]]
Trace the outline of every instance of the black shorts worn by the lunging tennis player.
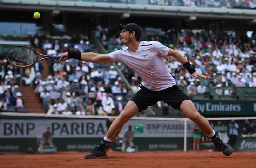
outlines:
[[139, 87], [141, 89], [131, 99], [138, 106], [139, 112], [161, 100], [172, 106], [172, 108], [180, 110], [182, 101], [190, 100], [177, 85], [161, 91], [152, 91], [144, 86]]

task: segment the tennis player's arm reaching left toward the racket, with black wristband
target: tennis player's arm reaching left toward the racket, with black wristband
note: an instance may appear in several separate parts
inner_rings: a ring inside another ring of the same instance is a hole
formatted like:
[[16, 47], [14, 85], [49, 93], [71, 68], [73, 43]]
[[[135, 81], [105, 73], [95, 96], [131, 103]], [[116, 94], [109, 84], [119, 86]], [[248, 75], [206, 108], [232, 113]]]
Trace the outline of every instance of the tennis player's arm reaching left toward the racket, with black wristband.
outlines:
[[98, 54], [94, 52], [64, 52], [61, 54], [61, 61], [66, 61], [67, 58], [74, 58], [85, 62], [113, 62], [113, 60], [108, 56], [108, 54]]

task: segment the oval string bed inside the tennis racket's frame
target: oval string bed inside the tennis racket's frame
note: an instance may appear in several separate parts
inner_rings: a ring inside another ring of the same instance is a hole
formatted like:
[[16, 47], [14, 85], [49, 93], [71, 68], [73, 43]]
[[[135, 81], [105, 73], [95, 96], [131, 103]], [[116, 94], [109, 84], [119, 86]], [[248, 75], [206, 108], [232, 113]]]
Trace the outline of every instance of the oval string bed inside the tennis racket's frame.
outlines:
[[15, 46], [7, 53], [9, 62], [17, 66], [31, 65], [37, 60], [37, 55], [33, 50], [22, 46]]

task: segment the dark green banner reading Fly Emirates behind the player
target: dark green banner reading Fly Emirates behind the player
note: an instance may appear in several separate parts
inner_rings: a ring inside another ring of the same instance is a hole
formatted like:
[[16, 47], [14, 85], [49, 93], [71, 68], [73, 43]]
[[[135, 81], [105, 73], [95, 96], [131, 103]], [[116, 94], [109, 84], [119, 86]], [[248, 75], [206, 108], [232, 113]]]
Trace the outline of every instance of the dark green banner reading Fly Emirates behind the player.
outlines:
[[203, 116], [256, 116], [255, 101], [193, 101]]

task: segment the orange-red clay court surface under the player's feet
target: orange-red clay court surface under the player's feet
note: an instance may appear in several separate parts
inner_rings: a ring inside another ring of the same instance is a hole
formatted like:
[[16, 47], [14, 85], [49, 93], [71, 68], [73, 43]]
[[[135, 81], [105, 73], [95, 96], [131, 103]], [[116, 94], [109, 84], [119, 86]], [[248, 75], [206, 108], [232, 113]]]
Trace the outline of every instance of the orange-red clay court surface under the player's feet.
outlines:
[[1, 168], [255, 168], [256, 153], [235, 152], [111, 152], [108, 157], [84, 159], [85, 153], [3, 154]]

